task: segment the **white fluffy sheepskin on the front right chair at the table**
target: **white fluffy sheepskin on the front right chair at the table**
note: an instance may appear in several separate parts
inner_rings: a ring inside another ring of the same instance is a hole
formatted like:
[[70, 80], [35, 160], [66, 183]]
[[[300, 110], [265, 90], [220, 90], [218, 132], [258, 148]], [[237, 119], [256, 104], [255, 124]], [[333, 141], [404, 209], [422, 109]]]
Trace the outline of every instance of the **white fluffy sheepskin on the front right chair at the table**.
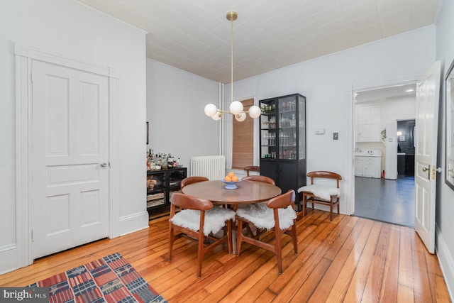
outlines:
[[[292, 206], [285, 209], [279, 209], [279, 228], [287, 229], [293, 225], [293, 220], [297, 219], [297, 213]], [[266, 202], [247, 204], [236, 211], [238, 216], [251, 221], [258, 228], [267, 228], [270, 230], [275, 227], [275, 215]]]

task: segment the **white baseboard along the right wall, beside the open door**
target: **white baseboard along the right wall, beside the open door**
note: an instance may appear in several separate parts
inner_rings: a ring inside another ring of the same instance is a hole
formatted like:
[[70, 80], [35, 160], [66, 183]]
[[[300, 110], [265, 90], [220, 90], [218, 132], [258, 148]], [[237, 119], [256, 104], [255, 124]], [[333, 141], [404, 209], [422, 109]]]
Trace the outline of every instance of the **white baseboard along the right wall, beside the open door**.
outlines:
[[438, 225], [436, 228], [436, 254], [438, 257], [438, 263], [440, 263], [443, 277], [445, 278], [446, 287], [448, 287], [449, 296], [451, 302], [454, 302], [454, 258], [453, 254], [449, 251], [446, 245], [443, 234], [440, 232]]

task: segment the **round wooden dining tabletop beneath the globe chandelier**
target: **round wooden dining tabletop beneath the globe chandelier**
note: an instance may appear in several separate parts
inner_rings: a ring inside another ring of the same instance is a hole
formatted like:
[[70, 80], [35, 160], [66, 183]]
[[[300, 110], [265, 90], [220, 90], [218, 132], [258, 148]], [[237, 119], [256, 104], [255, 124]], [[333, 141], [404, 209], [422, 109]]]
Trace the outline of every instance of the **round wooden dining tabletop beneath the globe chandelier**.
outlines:
[[238, 208], [238, 204], [267, 201], [282, 192], [276, 185], [250, 180], [238, 182], [236, 189], [226, 189], [225, 186], [221, 180], [210, 180], [189, 184], [182, 188], [182, 192], [213, 204], [229, 204], [233, 210]]

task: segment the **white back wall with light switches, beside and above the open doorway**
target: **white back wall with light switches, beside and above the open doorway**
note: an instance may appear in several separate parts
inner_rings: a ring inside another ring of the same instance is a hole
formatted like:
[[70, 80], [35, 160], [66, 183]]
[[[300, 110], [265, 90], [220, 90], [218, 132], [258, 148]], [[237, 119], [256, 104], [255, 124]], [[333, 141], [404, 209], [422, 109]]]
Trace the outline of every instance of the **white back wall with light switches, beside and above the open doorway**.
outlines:
[[[307, 170], [343, 176], [341, 212], [350, 214], [353, 171], [352, 89], [417, 79], [435, 60], [431, 26], [235, 82], [236, 99], [300, 93], [306, 99]], [[226, 86], [225, 100], [230, 100]], [[316, 136], [325, 128], [324, 136]], [[226, 127], [226, 132], [231, 131]], [[339, 140], [333, 141], [333, 133]], [[228, 137], [228, 135], [226, 135]], [[231, 146], [226, 142], [226, 150]]]

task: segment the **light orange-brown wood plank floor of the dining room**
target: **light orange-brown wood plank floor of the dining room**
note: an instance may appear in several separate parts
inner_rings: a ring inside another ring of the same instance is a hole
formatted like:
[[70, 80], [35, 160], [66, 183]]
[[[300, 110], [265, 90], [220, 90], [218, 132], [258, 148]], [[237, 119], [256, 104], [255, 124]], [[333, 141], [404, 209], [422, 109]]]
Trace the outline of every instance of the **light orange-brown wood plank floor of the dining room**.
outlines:
[[121, 253], [168, 302], [450, 302], [436, 255], [414, 229], [355, 216], [310, 211], [297, 221], [298, 255], [284, 237], [282, 275], [275, 255], [243, 244], [221, 246], [196, 277], [196, 245], [175, 243], [167, 260], [168, 217], [150, 228], [50, 255], [0, 275], [0, 286], [26, 286], [110, 253]]

